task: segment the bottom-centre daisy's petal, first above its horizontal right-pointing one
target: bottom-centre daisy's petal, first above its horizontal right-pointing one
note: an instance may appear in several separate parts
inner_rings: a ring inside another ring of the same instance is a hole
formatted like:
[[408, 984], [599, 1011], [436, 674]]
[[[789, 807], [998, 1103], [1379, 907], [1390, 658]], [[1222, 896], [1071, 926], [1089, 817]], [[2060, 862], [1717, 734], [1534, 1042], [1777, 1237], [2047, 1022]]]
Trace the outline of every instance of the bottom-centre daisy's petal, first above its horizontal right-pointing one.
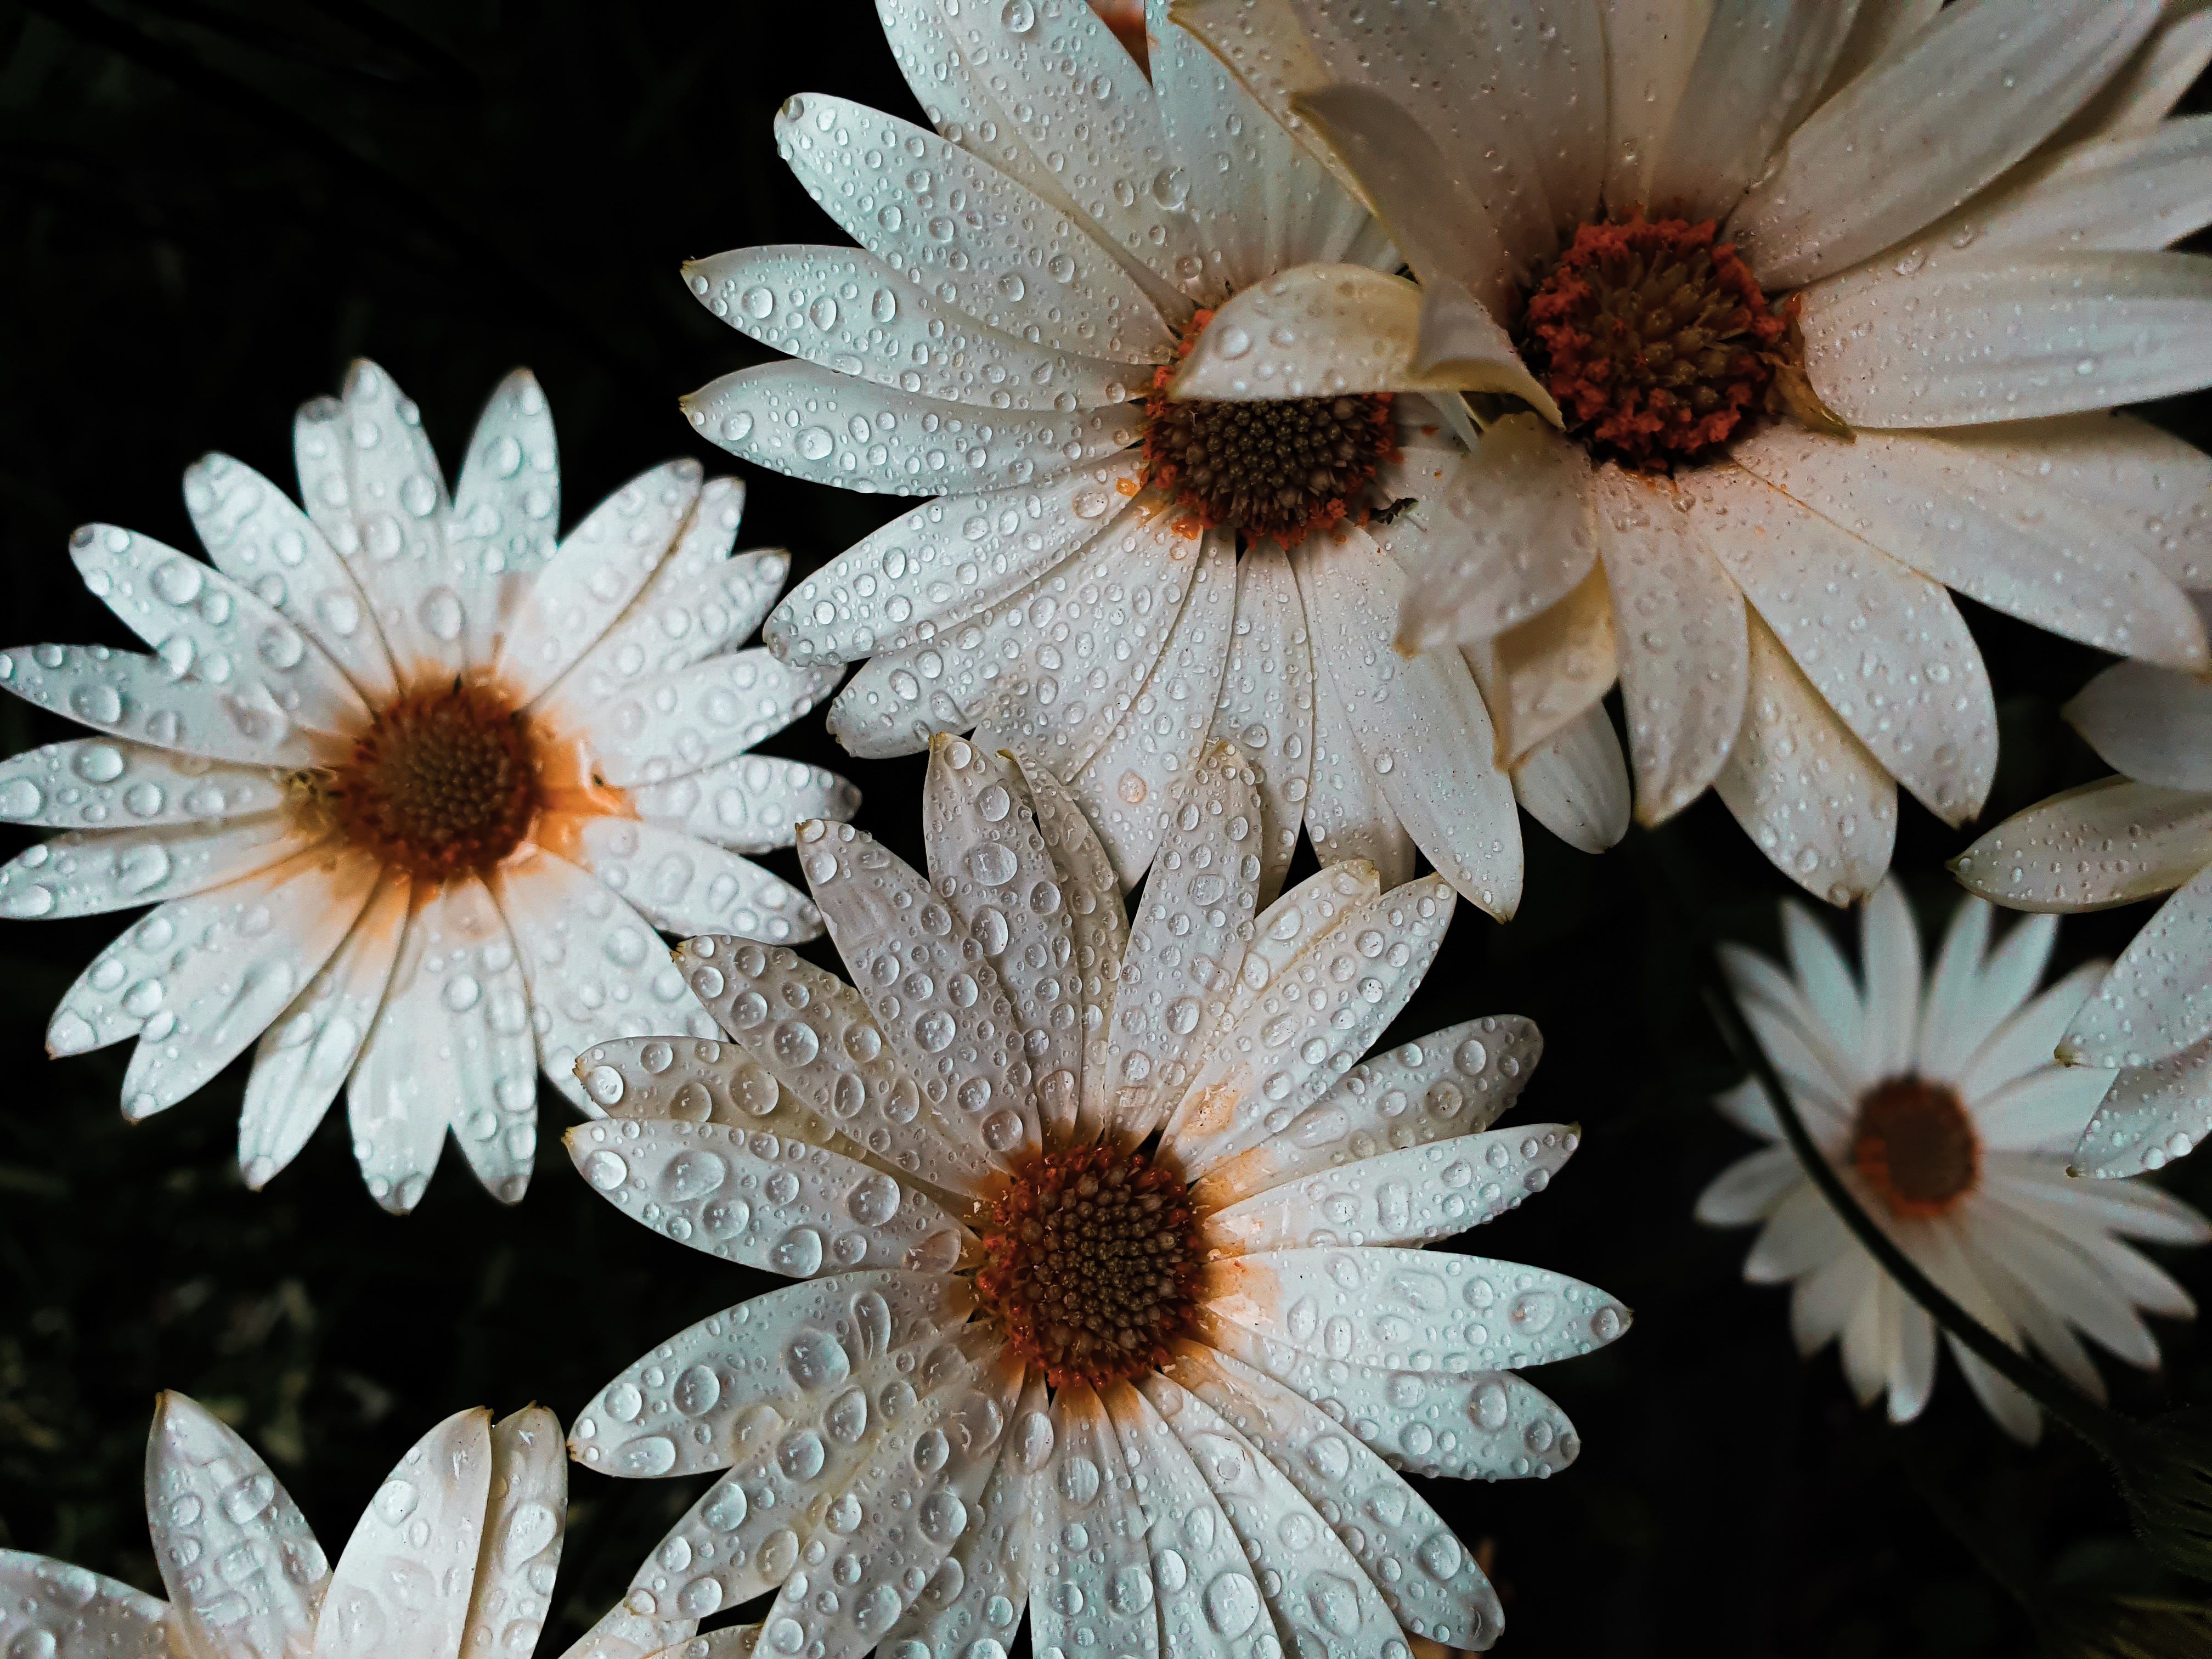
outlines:
[[1363, 1245], [1436, 1243], [1542, 1192], [1579, 1144], [1566, 1124], [1524, 1124], [1378, 1152], [1214, 1210], [1206, 1248], [1214, 1256], [1305, 1250], [1347, 1230]]

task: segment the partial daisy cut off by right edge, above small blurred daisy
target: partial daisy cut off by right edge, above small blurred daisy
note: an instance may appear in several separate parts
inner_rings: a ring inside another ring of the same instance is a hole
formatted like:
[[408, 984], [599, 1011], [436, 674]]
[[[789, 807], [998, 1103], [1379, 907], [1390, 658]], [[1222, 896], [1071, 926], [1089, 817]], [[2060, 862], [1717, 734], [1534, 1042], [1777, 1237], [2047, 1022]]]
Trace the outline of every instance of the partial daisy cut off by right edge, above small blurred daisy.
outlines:
[[[2212, 502], [2199, 500], [2194, 518], [2205, 515]], [[2139, 1175], [2212, 1135], [2212, 688], [2119, 664], [2066, 719], [2121, 776], [2006, 818], [1951, 869], [1984, 898], [2033, 911], [2172, 891], [2057, 1048], [2112, 1082], [2075, 1148], [2077, 1170]]]

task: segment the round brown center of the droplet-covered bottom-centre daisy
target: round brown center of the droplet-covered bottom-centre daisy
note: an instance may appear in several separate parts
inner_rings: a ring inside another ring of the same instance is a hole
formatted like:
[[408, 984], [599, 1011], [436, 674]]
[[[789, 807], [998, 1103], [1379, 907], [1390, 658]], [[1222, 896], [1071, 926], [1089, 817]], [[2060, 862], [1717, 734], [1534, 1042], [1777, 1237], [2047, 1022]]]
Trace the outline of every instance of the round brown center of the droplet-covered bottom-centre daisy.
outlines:
[[1033, 1157], [980, 1230], [982, 1305], [1055, 1389], [1166, 1363], [1199, 1274], [1190, 1194], [1170, 1170], [1117, 1146]]

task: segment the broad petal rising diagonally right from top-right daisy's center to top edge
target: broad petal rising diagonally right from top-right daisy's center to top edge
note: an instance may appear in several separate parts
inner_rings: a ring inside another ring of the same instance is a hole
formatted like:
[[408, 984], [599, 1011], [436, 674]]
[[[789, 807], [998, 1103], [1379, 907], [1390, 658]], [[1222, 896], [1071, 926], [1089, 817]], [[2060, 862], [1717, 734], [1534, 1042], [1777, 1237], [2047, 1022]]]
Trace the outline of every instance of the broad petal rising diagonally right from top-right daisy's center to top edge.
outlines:
[[1772, 290], [1902, 241], [2055, 133], [2157, 18], [2159, 0], [1955, 7], [1792, 133], [1728, 234]]

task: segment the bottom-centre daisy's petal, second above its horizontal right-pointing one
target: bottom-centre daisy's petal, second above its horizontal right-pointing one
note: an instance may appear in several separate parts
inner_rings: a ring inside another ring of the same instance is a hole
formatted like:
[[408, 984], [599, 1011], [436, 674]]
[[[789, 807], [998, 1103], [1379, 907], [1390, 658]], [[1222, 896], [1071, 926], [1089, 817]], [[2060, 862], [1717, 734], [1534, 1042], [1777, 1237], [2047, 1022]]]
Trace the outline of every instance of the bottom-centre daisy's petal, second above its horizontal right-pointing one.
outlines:
[[1542, 1053], [1535, 1024], [1511, 1013], [1402, 1042], [1347, 1071], [1281, 1135], [1208, 1170], [1192, 1199], [1203, 1214], [1391, 1148], [1480, 1135], [1513, 1104]]

